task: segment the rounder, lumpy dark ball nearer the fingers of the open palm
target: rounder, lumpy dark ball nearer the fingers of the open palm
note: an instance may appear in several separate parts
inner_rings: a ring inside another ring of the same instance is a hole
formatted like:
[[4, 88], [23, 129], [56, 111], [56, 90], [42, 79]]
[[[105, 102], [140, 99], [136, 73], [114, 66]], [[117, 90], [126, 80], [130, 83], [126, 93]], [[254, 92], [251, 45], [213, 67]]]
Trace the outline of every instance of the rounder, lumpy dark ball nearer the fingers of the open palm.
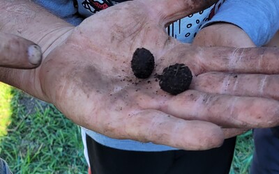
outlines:
[[188, 66], [176, 63], [165, 68], [163, 74], [158, 75], [158, 79], [160, 79], [159, 85], [162, 90], [177, 95], [188, 90], [193, 75]]

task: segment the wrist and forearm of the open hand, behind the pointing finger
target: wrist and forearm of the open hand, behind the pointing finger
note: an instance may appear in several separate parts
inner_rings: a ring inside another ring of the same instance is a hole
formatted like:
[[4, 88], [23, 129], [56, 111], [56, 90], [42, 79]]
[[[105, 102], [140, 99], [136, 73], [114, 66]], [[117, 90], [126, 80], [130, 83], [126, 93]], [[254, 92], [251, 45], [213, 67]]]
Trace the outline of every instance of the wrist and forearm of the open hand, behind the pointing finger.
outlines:
[[[22, 38], [38, 44], [45, 57], [53, 49], [65, 42], [74, 26], [59, 17], [47, 12], [44, 8], [29, 0], [0, 0], [0, 31], [20, 35]], [[43, 93], [40, 76], [41, 66], [32, 70], [0, 68], [0, 81], [20, 88], [38, 97], [40, 100], [52, 102]]]

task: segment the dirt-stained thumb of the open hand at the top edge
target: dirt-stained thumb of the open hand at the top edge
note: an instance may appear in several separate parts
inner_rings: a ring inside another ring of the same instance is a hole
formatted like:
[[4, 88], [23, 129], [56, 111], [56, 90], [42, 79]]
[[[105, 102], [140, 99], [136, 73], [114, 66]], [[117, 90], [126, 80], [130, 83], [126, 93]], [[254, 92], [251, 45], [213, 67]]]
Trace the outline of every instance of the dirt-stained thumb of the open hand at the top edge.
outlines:
[[151, 8], [151, 13], [156, 15], [156, 19], [165, 26], [177, 19], [187, 15], [197, 13], [198, 11], [209, 8], [216, 3], [216, 0], [190, 1], [190, 0], [147, 0], [147, 8]]

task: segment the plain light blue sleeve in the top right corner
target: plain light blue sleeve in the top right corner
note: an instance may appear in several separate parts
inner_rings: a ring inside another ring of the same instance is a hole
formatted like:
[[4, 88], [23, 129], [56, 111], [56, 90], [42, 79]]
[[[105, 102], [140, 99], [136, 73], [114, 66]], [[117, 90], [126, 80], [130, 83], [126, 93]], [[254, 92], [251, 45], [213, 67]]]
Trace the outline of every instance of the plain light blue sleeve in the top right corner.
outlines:
[[[278, 31], [278, 19], [279, 1], [277, 0], [226, 0], [211, 21], [203, 27], [212, 25], [212, 28], [216, 29], [220, 26], [213, 24], [234, 24], [245, 31], [252, 42], [259, 47], [269, 42]], [[232, 39], [236, 41], [233, 37]]]

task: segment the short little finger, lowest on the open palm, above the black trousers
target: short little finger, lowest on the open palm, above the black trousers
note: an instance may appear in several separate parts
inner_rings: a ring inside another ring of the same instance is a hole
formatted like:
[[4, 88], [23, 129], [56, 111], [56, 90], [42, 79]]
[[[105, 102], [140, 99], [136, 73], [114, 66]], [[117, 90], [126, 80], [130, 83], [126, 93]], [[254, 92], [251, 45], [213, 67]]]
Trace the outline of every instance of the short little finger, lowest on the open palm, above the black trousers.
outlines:
[[125, 120], [126, 134], [137, 141], [206, 150], [222, 145], [223, 131], [211, 122], [187, 121], [156, 110], [136, 113]]

